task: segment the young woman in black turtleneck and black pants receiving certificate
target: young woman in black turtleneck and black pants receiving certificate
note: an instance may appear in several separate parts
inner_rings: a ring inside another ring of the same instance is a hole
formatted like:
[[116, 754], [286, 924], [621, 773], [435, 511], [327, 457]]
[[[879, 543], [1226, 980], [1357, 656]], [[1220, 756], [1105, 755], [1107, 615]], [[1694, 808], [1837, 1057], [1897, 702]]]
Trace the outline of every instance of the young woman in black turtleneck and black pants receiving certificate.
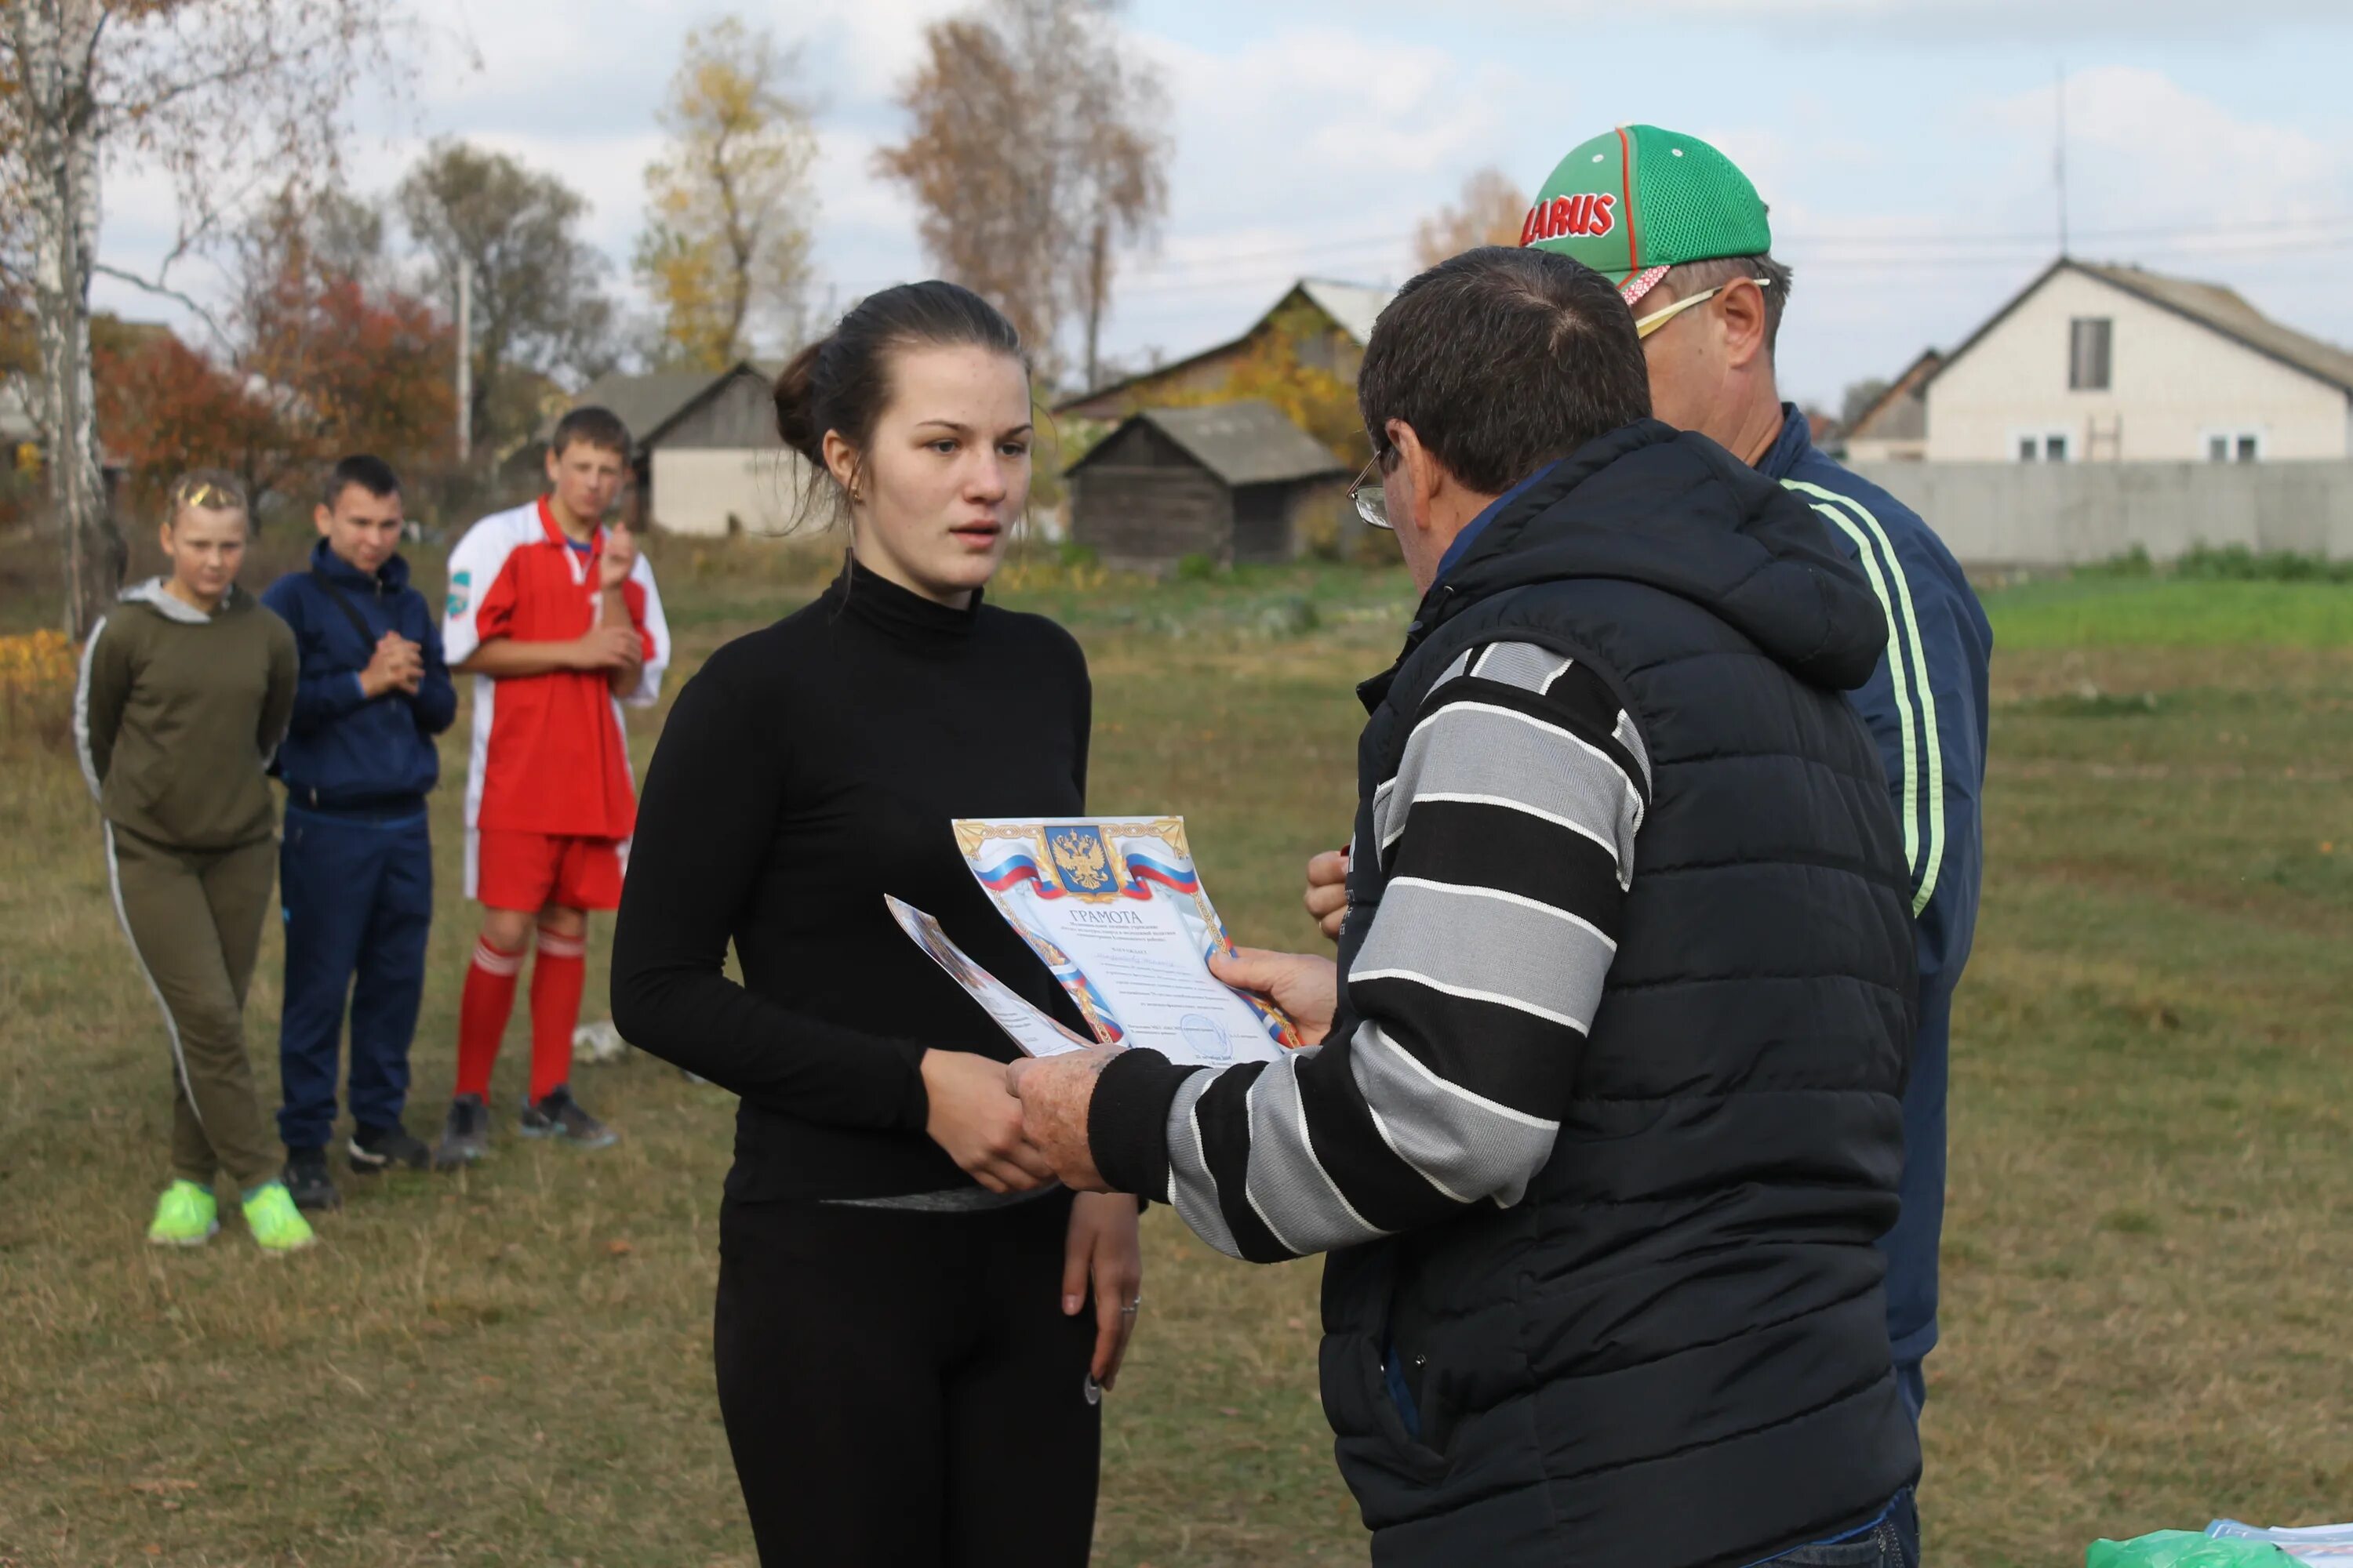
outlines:
[[981, 604], [1028, 501], [1021, 343], [967, 289], [887, 289], [786, 367], [776, 425], [852, 555], [678, 696], [612, 957], [621, 1034], [741, 1095], [727, 1443], [762, 1563], [1085, 1563], [1134, 1199], [1049, 1182], [1005, 1093], [1012, 1044], [882, 905], [1068, 1006], [948, 827], [1087, 795], [1085, 656]]

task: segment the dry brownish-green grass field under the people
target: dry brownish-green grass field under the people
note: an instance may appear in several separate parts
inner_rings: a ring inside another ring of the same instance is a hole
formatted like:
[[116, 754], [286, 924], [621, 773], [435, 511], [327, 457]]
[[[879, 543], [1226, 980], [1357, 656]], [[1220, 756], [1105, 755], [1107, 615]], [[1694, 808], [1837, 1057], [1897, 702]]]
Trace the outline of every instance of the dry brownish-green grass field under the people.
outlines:
[[[807, 592], [748, 548], [656, 562], [687, 668]], [[7, 630], [47, 618], [9, 597]], [[1238, 936], [1306, 943], [1297, 870], [1346, 835], [1348, 686], [1393, 649], [1398, 574], [1141, 590], [1038, 567], [1005, 597], [1087, 644], [1094, 806], [1184, 811]], [[2313, 583], [1991, 595], [1925, 1429], [1939, 1563], [2353, 1516], [2348, 607]], [[49, 712], [0, 712], [0, 1563], [748, 1563], [708, 1368], [727, 1098], [645, 1058], [581, 1067], [614, 1152], [506, 1143], [464, 1178], [346, 1182], [327, 1246], [287, 1262], [235, 1227], [153, 1253], [162, 1032]], [[656, 724], [635, 724], [642, 759]], [[471, 940], [454, 806], [419, 1128]], [[271, 952], [249, 1009], [268, 1093], [275, 1013]], [[518, 1025], [501, 1105], [520, 1058]], [[1231, 1265], [1165, 1211], [1146, 1253], [1096, 1561], [1362, 1561], [1315, 1408], [1315, 1267]]]

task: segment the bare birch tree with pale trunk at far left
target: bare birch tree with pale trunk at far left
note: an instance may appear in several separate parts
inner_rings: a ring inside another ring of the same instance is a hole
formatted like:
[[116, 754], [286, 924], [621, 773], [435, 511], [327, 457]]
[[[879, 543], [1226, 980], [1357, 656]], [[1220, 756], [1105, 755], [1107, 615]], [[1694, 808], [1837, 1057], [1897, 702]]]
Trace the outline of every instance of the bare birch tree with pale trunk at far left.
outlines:
[[[0, 282], [33, 317], [64, 623], [80, 635], [120, 559], [99, 473], [89, 284], [169, 282], [259, 188], [332, 172], [348, 89], [384, 85], [391, 0], [0, 0]], [[153, 273], [99, 259], [101, 172], [155, 172], [179, 230]], [[111, 548], [113, 545], [113, 548]]]

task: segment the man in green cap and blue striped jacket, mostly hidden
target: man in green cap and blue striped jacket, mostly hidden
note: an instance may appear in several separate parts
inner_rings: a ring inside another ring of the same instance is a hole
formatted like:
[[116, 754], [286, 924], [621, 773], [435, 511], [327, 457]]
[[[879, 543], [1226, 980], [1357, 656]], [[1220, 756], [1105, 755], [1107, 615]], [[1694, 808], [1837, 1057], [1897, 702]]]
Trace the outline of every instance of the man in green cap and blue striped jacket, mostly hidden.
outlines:
[[[1937, 1345], [1946, 1056], [1953, 987], [1977, 926], [1993, 632], [1927, 524], [1831, 461], [1807, 416], [1781, 400], [1774, 343], [1791, 268], [1774, 261], [1767, 207], [1729, 158], [1699, 136], [1621, 125], [1560, 160], [1527, 209], [1520, 244], [1574, 256], [1617, 284], [1635, 313], [1654, 416], [1708, 435], [1800, 494], [1887, 614], [1887, 654], [1847, 696], [1878, 741], [1911, 863], [1920, 1032], [1904, 1093], [1901, 1218], [1880, 1251], [1897, 1380], [1918, 1418], [1920, 1363]], [[1346, 905], [1341, 875], [1339, 856], [1308, 867], [1308, 907], [1327, 931]]]

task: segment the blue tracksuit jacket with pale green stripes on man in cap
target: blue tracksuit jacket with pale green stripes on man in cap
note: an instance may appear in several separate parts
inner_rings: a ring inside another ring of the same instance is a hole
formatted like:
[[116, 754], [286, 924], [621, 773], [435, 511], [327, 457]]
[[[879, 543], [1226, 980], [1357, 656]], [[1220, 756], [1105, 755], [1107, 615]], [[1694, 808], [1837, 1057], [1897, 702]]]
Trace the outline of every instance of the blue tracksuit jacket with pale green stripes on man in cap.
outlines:
[[1937, 1345], [1937, 1241], [1944, 1232], [1944, 1086], [1953, 987], [1977, 931], [1984, 870], [1986, 665], [1993, 628], [1960, 562], [1920, 515], [1814, 447], [1805, 414], [1781, 404], [1781, 440], [1758, 468], [1805, 496], [1871, 578], [1887, 611], [1887, 656], [1847, 693], [1887, 764], [1904, 823], [1920, 952], [1920, 1034], [1904, 1091], [1904, 1213], [1887, 1253], [1887, 1333], [1920, 1396], [1918, 1363]]

